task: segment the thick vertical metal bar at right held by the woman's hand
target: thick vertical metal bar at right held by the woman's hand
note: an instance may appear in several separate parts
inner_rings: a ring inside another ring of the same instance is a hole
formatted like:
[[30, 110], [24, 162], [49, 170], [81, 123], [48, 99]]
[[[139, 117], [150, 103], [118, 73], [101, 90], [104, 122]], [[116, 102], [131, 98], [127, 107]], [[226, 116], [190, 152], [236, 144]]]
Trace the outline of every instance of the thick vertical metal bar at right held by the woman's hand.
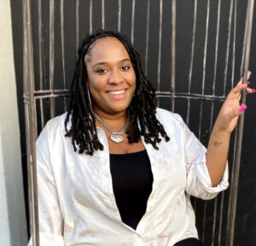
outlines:
[[[252, 28], [253, 28], [253, 7], [254, 0], [248, 0], [248, 12], [247, 12], [247, 35], [246, 38], [246, 49], [245, 49], [245, 59], [243, 67], [243, 83], [247, 81], [247, 70], [249, 67], [250, 60], [250, 49], [251, 49], [251, 38], [252, 38]], [[242, 92], [241, 103], [244, 104], [246, 101], [245, 90]], [[244, 123], [244, 113], [241, 114], [238, 120], [238, 136], [236, 145], [236, 161], [235, 161], [235, 172], [234, 180], [232, 180], [231, 191], [232, 192], [232, 202], [230, 210], [230, 225], [229, 225], [229, 245], [233, 246], [234, 243], [234, 232], [235, 232], [235, 221], [236, 221], [236, 203], [237, 203], [237, 192], [238, 192], [238, 182], [239, 182], [239, 170], [241, 164], [241, 143], [242, 143], [242, 131]]]

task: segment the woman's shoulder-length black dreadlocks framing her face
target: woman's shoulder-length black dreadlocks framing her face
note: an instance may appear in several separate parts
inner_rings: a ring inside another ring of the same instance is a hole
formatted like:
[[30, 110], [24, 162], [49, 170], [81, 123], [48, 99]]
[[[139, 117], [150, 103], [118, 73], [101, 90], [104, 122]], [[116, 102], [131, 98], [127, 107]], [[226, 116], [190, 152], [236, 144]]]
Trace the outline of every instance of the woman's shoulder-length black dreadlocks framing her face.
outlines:
[[[170, 140], [162, 124], [155, 117], [156, 107], [154, 105], [155, 91], [151, 83], [145, 77], [142, 69], [142, 62], [137, 51], [131, 46], [127, 38], [115, 31], [98, 30], [84, 40], [81, 49], [78, 51], [76, 70], [71, 84], [72, 98], [70, 107], [65, 119], [66, 136], [72, 138], [73, 150], [79, 153], [85, 152], [92, 155], [94, 151], [102, 150], [102, 143], [99, 141], [96, 132], [95, 117], [90, 105], [90, 95], [86, 88], [84, 78], [87, 71], [84, 64], [85, 54], [90, 54], [92, 43], [104, 37], [116, 37], [125, 46], [131, 58], [131, 64], [136, 74], [136, 90], [129, 106], [131, 114], [131, 128], [126, 130], [129, 143], [138, 142], [141, 136], [147, 144], [158, 150], [157, 143], [161, 141], [159, 134]], [[71, 128], [67, 129], [67, 123], [71, 117]], [[138, 122], [140, 128], [138, 126]]]

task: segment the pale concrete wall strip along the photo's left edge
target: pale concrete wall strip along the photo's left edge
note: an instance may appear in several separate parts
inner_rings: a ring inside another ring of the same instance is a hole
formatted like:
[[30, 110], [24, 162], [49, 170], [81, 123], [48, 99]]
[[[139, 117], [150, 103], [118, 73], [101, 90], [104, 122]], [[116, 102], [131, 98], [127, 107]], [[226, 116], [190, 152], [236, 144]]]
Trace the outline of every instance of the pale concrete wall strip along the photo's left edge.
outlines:
[[0, 1], [0, 244], [26, 245], [10, 1]]

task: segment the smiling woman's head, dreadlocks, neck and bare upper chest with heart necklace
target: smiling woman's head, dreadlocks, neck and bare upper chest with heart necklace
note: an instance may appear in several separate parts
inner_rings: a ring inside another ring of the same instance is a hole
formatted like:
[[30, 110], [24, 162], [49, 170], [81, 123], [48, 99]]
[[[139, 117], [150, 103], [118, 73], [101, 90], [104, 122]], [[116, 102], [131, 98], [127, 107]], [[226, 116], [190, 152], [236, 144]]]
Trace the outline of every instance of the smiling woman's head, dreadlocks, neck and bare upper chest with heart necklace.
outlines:
[[[87, 154], [102, 149], [94, 129], [102, 125], [111, 153], [144, 150], [142, 135], [155, 149], [159, 134], [169, 140], [155, 116], [154, 88], [143, 73], [139, 54], [122, 34], [99, 30], [84, 40], [71, 90], [65, 125], [75, 151], [77, 146]], [[67, 129], [71, 115], [73, 127]]]

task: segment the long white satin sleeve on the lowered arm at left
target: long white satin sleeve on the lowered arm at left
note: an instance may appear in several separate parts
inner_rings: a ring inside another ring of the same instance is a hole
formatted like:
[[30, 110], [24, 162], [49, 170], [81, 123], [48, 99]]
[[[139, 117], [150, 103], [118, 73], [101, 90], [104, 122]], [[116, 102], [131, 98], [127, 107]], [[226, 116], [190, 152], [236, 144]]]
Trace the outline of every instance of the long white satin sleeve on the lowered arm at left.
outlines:
[[[63, 218], [51, 169], [49, 149], [49, 134], [46, 125], [36, 145], [40, 245], [64, 246]], [[32, 246], [32, 238], [28, 246]]]

